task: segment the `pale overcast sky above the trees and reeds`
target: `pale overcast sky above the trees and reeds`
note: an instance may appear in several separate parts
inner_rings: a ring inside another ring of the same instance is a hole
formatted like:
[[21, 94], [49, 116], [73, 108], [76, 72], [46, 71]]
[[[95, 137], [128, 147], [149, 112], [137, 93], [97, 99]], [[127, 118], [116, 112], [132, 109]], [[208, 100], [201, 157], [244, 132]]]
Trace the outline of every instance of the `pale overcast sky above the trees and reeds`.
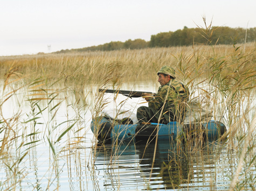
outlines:
[[184, 26], [256, 27], [256, 0], [0, 0], [0, 56], [150, 40]]

